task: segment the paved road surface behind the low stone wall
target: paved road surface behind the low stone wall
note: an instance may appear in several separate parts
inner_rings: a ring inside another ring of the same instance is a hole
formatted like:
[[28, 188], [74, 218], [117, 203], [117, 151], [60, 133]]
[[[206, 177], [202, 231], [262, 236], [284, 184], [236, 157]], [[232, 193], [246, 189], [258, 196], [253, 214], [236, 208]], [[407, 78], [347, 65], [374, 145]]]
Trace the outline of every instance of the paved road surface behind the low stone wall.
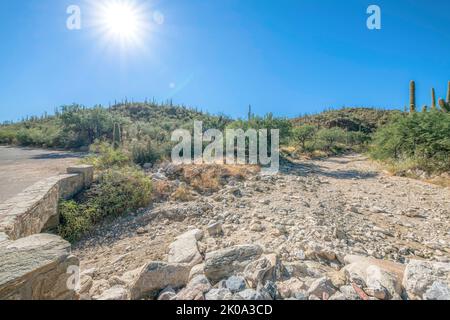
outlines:
[[64, 173], [80, 154], [0, 146], [0, 203], [43, 178]]

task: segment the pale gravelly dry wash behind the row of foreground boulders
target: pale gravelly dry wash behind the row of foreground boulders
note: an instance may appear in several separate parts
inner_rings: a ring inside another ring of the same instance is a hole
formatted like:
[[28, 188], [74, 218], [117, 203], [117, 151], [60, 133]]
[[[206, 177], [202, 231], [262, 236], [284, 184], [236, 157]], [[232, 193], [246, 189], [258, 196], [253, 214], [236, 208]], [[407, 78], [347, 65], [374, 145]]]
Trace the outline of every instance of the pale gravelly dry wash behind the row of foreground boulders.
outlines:
[[224, 222], [224, 236], [206, 236], [203, 252], [256, 243], [291, 262], [311, 252], [401, 263], [450, 257], [450, 190], [391, 177], [359, 155], [284, 163], [274, 177], [255, 176], [188, 203], [156, 204], [105, 224], [74, 254], [83, 269], [95, 268], [95, 280], [110, 279], [165, 259], [176, 236], [212, 221]]

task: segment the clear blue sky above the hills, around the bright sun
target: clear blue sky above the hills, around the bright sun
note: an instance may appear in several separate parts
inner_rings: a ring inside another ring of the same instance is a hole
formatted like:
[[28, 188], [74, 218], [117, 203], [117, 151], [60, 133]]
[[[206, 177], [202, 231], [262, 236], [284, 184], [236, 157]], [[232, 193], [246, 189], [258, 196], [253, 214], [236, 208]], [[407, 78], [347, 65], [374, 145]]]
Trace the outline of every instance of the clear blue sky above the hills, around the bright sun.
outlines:
[[[0, 1], [0, 120], [124, 97], [234, 117], [249, 104], [281, 116], [402, 108], [409, 80], [420, 105], [450, 80], [448, 0], [135, 2], [164, 23], [151, 22], [142, 47], [120, 48], [90, 26], [87, 0]], [[82, 9], [79, 31], [66, 28], [70, 4]], [[380, 31], [366, 28], [370, 4], [382, 9]]]

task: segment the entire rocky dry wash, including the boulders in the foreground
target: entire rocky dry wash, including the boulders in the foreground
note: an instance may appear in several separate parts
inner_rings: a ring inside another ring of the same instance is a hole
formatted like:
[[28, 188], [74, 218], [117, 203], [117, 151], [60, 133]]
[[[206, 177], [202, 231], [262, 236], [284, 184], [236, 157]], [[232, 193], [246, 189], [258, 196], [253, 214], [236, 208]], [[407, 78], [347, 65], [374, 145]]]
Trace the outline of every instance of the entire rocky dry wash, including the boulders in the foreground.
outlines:
[[84, 299], [450, 299], [449, 221], [448, 188], [351, 155], [154, 204], [74, 254]]

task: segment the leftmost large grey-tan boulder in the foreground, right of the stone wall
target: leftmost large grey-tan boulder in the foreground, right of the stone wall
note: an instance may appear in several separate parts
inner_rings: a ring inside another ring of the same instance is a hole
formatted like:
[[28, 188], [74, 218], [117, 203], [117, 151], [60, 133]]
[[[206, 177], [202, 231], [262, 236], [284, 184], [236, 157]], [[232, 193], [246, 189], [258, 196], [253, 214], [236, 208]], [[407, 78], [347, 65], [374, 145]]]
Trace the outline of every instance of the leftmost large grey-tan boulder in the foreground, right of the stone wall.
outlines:
[[[149, 262], [131, 277], [131, 299], [154, 298], [166, 287], [181, 288], [188, 283], [187, 264]], [[127, 278], [127, 277], [125, 277]]]

